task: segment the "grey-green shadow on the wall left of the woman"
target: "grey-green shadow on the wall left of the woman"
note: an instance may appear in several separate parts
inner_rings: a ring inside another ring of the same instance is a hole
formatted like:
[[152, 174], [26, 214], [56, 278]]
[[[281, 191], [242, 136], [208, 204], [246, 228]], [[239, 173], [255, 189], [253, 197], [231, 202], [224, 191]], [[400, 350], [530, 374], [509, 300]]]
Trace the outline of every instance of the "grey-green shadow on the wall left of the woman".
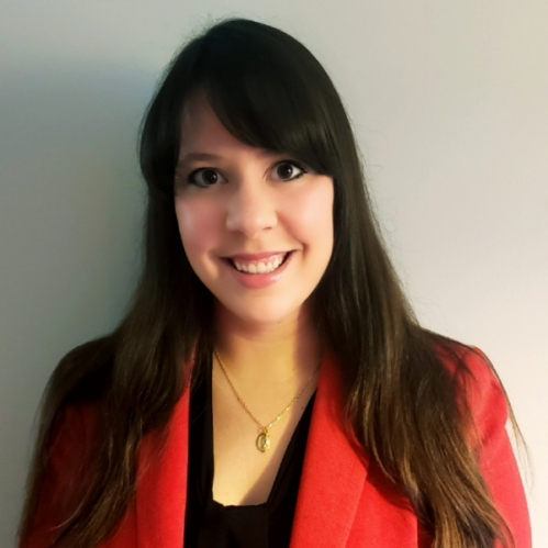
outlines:
[[12, 546], [47, 378], [114, 327], [134, 288], [154, 76], [64, 65], [0, 81], [0, 546]]

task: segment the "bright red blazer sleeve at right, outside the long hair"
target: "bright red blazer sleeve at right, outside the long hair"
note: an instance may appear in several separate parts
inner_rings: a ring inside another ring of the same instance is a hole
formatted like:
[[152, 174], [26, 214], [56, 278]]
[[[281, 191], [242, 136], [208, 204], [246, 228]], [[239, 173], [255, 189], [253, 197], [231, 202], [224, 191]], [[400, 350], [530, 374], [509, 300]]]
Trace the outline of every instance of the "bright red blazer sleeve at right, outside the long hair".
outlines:
[[483, 478], [514, 536], [515, 547], [530, 548], [527, 501], [506, 432], [508, 405], [505, 392], [481, 350], [473, 349], [467, 365], [472, 373], [472, 387], [467, 387], [468, 402], [474, 418]]

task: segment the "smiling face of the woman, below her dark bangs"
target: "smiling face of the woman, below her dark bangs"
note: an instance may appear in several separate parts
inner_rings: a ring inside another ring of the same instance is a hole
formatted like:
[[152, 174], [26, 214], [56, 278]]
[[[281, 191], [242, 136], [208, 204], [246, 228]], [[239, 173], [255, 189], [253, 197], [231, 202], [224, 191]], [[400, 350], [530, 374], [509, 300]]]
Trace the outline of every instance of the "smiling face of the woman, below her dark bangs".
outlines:
[[297, 320], [333, 250], [333, 179], [233, 137], [187, 104], [176, 212], [190, 265], [228, 316]]

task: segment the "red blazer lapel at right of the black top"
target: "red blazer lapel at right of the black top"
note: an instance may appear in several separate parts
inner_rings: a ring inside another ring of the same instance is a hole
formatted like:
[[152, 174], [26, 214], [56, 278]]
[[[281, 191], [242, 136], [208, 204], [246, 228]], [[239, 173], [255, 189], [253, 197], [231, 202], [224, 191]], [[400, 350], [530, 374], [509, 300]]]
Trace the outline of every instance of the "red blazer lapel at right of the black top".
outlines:
[[317, 385], [297, 501], [291, 548], [347, 544], [367, 477], [344, 434], [340, 374], [326, 355]]

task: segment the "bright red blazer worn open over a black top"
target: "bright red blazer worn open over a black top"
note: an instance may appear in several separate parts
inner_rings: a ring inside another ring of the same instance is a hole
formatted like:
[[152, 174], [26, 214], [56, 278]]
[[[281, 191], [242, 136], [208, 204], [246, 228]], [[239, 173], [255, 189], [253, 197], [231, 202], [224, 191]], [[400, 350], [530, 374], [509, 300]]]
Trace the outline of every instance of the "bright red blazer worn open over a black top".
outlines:
[[[519, 472], [506, 435], [502, 389], [485, 362], [469, 353], [476, 382], [469, 390], [481, 439], [481, 468], [517, 548], [530, 548], [530, 527]], [[450, 367], [450, 364], [448, 364]], [[426, 548], [432, 538], [409, 501], [373, 461], [360, 459], [343, 434], [337, 367], [325, 358], [297, 503], [291, 548]], [[52, 449], [26, 548], [46, 548], [55, 523], [55, 492], [67, 477], [75, 448], [89, 441], [89, 412], [71, 410]], [[114, 535], [101, 548], [181, 548], [187, 496], [189, 391], [175, 409], [161, 452], [156, 434], [139, 449], [137, 493]], [[212, 547], [213, 548], [213, 547]]]

